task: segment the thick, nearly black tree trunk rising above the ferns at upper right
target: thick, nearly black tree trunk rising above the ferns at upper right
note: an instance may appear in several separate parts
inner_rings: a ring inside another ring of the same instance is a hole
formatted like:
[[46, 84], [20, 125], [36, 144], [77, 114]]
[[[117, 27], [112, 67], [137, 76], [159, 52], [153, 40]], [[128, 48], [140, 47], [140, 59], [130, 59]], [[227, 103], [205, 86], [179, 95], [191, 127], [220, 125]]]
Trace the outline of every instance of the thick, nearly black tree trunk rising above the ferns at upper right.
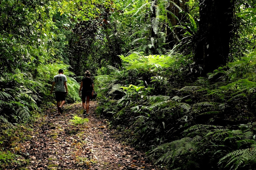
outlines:
[[227, 64], [233, 8], [234, 1], [200, 0], [194, 62], [201, 71], [196, 76], [204, 76]]

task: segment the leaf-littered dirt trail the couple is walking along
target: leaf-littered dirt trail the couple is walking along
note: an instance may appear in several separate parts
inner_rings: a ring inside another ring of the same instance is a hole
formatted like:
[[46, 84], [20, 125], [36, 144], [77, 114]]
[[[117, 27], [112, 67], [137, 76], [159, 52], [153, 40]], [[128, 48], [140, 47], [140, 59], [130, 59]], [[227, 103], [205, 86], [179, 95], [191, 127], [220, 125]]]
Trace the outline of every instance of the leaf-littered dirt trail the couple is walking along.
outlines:
[[34, 124], [32, 138], [23, 143], [30, 157], [30, 170], [154, 170], [145, 155], [123, 145], [107, 128], [107, 121], [95, 115], [96, 102], [90, 102], [89, 122], [74, 125], [74, 116], [83, 117], [82, 104], [64, 105], [63, 114], [56, 109]]

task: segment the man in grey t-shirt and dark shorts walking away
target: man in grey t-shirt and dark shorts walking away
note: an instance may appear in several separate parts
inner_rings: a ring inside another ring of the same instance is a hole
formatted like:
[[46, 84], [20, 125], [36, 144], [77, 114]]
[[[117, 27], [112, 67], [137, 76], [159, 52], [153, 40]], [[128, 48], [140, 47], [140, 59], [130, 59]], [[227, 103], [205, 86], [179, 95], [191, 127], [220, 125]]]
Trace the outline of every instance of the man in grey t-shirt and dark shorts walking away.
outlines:
[[56, 76], [53, 77], [52, 89], [51, 89], [50, 94], [52, 94], [54, 85], [56, 84], [55, 98], [57, 101], [58, 115], [62, 114], [62, 112], [63, 112], [61, 107], [65, 104], [66, 95], [68, 94], [67, 81], [68, 81], [67, 77], [63, 74], [62, 69], [59, 69], [59, 74], [57, 74]]

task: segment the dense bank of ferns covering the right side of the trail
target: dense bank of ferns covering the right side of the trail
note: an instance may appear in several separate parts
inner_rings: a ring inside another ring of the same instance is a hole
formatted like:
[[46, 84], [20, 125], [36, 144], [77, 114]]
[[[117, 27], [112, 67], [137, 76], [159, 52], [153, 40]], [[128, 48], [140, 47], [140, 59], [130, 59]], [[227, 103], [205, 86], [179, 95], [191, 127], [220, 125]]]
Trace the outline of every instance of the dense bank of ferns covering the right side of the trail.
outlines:
[[122, 68], [99, 70], [97, 111], [130, 142], [170, 169], [254, 168], [255, 62], [193, 81], [192, 61], [180, 54], [121, 59]]

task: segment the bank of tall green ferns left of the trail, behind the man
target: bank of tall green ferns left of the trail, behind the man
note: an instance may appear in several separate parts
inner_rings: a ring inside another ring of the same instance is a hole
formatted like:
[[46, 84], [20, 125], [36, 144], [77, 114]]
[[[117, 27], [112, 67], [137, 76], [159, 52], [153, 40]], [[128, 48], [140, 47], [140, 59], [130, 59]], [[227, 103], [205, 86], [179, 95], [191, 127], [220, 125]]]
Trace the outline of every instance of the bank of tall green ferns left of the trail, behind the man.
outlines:
[[0, 80], [0, 119], [9, 124], [22, 123], [30, 119], [31, 111], [41, 112], [41, 107], [51, 105], [54, 97], [49, 91], [53, 76], [58, 74], [59, 68], [65, 70], [68, 78], [67, 101], [71, 103], [79, 100], [79, 85], [69, 77], [74, 74], [68, 71], [67, 67], [68, 65], [56, 63], [40, 65], [34, 77], [29, 72], [21, 72], [19, 69], [13, 73], [5, 73], [5, 79]]

